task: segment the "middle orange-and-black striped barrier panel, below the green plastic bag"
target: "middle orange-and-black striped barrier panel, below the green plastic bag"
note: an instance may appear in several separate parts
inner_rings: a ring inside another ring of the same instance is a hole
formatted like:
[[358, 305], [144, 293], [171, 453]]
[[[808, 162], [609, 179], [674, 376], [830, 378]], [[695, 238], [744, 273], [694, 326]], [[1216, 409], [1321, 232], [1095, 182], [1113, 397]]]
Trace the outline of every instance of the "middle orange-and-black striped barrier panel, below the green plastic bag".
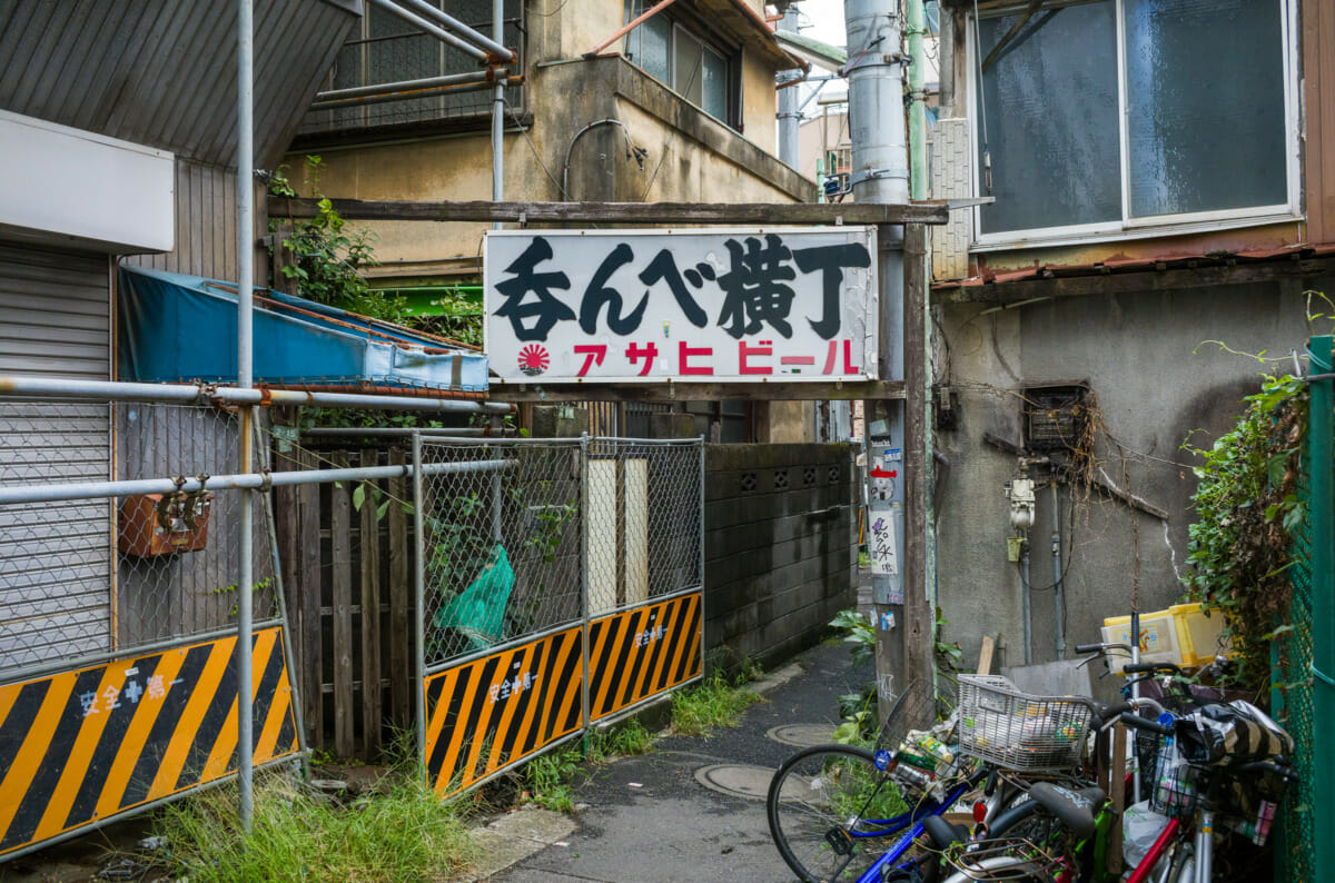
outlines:
[[429, 675], [426, 768], [462, 791], [579, 730], [583, 628], [575, 626]]

